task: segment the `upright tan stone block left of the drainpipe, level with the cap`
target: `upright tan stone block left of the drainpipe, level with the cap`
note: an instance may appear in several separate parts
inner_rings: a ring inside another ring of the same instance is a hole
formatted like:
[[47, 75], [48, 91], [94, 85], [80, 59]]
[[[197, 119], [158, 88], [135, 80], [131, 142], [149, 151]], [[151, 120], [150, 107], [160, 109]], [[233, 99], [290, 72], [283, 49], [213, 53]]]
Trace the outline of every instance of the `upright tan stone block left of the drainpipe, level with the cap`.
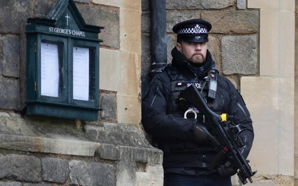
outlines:
[[141, 14], [140, 10], [120, 9], [121, 50], [141, 54]]

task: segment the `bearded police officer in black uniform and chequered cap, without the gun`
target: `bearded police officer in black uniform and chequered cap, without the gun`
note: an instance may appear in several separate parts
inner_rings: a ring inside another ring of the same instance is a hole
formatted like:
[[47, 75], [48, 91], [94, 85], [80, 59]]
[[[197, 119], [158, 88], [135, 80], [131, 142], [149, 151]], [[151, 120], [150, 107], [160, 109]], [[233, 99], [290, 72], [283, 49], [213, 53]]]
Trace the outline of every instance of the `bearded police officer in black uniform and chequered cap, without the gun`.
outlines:
[[[215, 63], [207, 49], [210, 30], [211, 24], [201, 19], [186, 20], [173, 27], [177, 45], [172, 50], [172, 64], [155, 76], [142, 100], [144, 129], [164, 152], [164, 185], [167, 186], [231, 186], [231, 176], [237, 172], [229, 157], [222, 158], [215, 169], [207, 169], [220, 150], [220, 139], [200, 108], [191, 108], [179, 99], [179, 92], [192, 83], [211, 110], [232, 115], [233, 122], [242, 126], [244, 131], [240, 136], [245, 142], [242, 149], [245, 158], [251, 149], [254, 133], [250, 113], [233, 84], [214, 69]], [[215, 99], [208, 97], [210, 88], [206, 83], [210, 74], [214, 78], [214, 72]]]

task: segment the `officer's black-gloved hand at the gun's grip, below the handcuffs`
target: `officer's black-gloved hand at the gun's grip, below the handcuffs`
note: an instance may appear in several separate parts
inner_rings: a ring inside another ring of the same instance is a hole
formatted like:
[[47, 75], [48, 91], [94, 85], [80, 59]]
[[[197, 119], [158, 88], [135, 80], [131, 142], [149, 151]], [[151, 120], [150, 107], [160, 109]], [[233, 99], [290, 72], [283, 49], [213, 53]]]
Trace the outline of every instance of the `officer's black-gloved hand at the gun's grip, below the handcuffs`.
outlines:
[[220, 146], [220, 143], [215, 139], [215, 137], [201, 125], [196, 125], [195, 127], [195, 141], [200, 144], [211, 141], [215, 146]]

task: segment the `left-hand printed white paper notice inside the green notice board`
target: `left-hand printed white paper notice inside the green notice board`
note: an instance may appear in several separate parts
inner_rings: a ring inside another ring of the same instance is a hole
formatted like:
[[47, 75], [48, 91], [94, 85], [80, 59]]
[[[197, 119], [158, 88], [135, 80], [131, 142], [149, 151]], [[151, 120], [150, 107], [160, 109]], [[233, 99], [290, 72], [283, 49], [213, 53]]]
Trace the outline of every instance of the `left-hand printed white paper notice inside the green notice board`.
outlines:
[[58, 97], [58, 46], [41, 43], [41, 95]]

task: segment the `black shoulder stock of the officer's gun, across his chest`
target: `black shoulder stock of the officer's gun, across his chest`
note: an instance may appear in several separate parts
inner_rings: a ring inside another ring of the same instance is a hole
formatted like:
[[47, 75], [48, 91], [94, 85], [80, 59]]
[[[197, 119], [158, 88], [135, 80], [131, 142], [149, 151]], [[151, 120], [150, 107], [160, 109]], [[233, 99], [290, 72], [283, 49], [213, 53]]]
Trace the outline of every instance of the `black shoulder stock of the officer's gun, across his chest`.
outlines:
[[188, 103], [192, 104], [196, 109], [200, 110], [214, 126], [219, 125], [219, 122], [221, 122], [221, 117], [210, 110], [194, 84], [180, 92], [180, 95]]

